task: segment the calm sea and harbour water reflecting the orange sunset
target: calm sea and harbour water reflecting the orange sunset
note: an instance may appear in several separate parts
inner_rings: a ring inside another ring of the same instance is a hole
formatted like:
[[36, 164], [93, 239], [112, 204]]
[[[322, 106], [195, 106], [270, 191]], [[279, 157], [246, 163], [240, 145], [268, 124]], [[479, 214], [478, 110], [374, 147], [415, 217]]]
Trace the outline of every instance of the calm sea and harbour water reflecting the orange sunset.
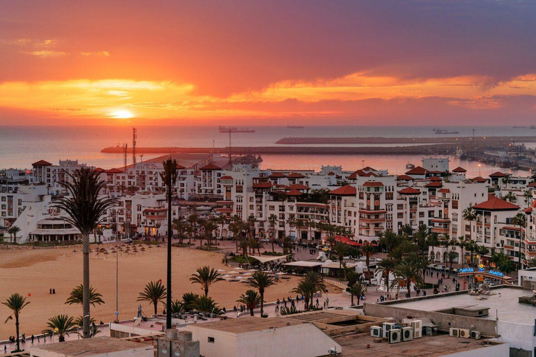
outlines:
[[[473, 127], [445, 127], [458, 130], [456, 136], [472, 135]], [[362, 126], [311, 126], [304, 129], [286, 127], [255, 127], [254, 133], [232, 135], [233, 146], [273, 146], [282, 137], [434, 137], [433, 127], [362, 127]], [[536, 135], [536, 130], [507, 127], [476, 127], [477, 136]], [[442, 137], [443, 135], [437, 135]], [[163, 127], [140, 126], [137, 128], [137, 146], [228, 146], [228, 135], [218, 132], [216, 126]], [[128, 142], [131, 146], [130, 127], [0, 127], [0, 168], [31, 167], [31, 163], [43, 159], [56, 163], [60, 159], [78, 159], [103, 168], [122, 165], [122, 155], [103, 154], [101, 149]], [[349, 145], [343, 145], [349, 146]], [[149, 158], [148, 155], [144, 159]], [[342, 165], [343, 169], [365, 166], [387, 168], [392, 174], [406, 171], [405, 164], [420, 165], [421, 155], [263, 155], [262, 168], [319, 169], [320, 165]], [[365, 160], [364, 163], [362, 160]], [[452, 158], [452, 168], [462, 166], [468, 176], [486, 175], [497, 171], [496, 167], [477, 162], [459, 162]], [[525, 173], [528, 174], [528, 173]]]

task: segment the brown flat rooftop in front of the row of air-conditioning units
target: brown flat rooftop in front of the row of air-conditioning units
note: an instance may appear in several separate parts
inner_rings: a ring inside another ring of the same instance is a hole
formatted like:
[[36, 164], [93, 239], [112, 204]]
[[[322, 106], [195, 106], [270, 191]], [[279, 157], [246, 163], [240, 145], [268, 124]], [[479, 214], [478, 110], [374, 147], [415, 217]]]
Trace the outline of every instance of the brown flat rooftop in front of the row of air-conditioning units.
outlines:
[[[343, 353], [340, 355], [343, 357], [434, 357], [445, 356], [446, 354], [457, 354], [467, 352], [472, 349], [488, 347], [487, 345], [483, 345], [485, 340], [450, 337], [449, 335], [424, 336], [411, 341], [394, 344], [387, 342], [376, 343], [374, 342], [375, 337], [371, 337], [370, 333], [346, 335], [345, 337], [334, 337], [334, 340], [343, 347]], [[367, 348], [367, 345], [370, 345], [370, 348]]]

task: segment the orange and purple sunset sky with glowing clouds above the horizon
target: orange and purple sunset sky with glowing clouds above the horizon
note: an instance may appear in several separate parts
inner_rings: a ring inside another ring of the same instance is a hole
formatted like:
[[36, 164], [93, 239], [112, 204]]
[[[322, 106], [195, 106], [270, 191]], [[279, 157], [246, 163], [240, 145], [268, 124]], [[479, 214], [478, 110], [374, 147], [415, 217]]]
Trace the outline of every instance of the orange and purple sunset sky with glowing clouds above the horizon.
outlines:
[[512, 125], [534, 1], [0, 0], [0, 125]]

